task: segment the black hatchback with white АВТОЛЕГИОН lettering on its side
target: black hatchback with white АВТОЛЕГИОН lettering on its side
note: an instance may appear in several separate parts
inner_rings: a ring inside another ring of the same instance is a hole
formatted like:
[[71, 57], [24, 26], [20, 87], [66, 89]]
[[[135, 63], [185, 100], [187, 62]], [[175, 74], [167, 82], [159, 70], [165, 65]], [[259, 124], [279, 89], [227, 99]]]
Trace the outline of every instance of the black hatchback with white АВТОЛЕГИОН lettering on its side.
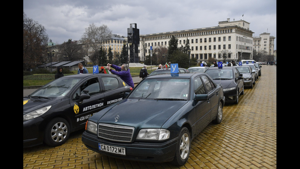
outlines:
[[69, 75], [47, 83], [23, 98], [23, 147], [65, 143], [89, 117], [131, 90], [112, 74]]

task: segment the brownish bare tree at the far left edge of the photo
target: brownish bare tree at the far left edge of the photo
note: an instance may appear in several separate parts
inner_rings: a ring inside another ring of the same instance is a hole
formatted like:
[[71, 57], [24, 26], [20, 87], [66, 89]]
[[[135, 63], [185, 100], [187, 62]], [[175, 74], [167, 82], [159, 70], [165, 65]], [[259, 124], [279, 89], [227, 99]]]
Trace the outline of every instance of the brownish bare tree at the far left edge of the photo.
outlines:
[[23, 70], [46, 63], [49, 37], [43, 25], [28, 18], [23, 11]]

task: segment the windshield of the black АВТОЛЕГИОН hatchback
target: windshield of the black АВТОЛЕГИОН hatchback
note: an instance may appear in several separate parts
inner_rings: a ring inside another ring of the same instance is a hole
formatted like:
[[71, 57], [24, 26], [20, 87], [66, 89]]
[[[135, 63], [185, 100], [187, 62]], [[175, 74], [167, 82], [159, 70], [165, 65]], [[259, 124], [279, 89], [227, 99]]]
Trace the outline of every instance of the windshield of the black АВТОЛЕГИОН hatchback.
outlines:
[[30, 97], [44, 97], [44, 98], [62, 98], [75, 86], [80, 78], [58, 78], [52, 82], [42, 86], [32, 94]]

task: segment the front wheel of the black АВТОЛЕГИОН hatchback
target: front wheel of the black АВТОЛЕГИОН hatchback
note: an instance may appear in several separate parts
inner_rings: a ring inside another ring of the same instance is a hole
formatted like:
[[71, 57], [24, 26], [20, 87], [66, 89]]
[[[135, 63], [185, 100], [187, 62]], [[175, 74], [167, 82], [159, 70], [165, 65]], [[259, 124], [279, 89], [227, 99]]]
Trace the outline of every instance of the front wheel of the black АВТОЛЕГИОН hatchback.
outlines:
[[70, 136], [70, 125], [64, 118], [52, 119], [45, 128], [44, 142], [52, 147], [64, 144]]

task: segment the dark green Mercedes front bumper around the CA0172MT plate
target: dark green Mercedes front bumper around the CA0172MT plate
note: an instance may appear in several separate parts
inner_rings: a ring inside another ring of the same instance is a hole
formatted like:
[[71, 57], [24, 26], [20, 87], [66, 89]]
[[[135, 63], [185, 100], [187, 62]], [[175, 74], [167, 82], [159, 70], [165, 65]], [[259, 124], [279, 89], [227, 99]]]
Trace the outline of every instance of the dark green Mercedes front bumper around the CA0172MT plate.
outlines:
[[[110, 140], [104, 140], [97, 137], [94, 134], [84, 131], [81, 137], [84, 145], [100, 154], [111, 156], [119, 159], [133, 160], [133, 161], [143, 161], [143, 162], [152, 162], [152, 163], [163, 163], [167, 161], [172, 161], [174, 159], [177, 137], [161, 142], [138, 142], [133, 143], [123, 143], [123, 142], [114, 142]], [[109, 152], [104, 152], [99, 150], [99, 143], [106, 144], [109, 146], [117, 146], [125, 148], [126, 155], [119, 155]]]

